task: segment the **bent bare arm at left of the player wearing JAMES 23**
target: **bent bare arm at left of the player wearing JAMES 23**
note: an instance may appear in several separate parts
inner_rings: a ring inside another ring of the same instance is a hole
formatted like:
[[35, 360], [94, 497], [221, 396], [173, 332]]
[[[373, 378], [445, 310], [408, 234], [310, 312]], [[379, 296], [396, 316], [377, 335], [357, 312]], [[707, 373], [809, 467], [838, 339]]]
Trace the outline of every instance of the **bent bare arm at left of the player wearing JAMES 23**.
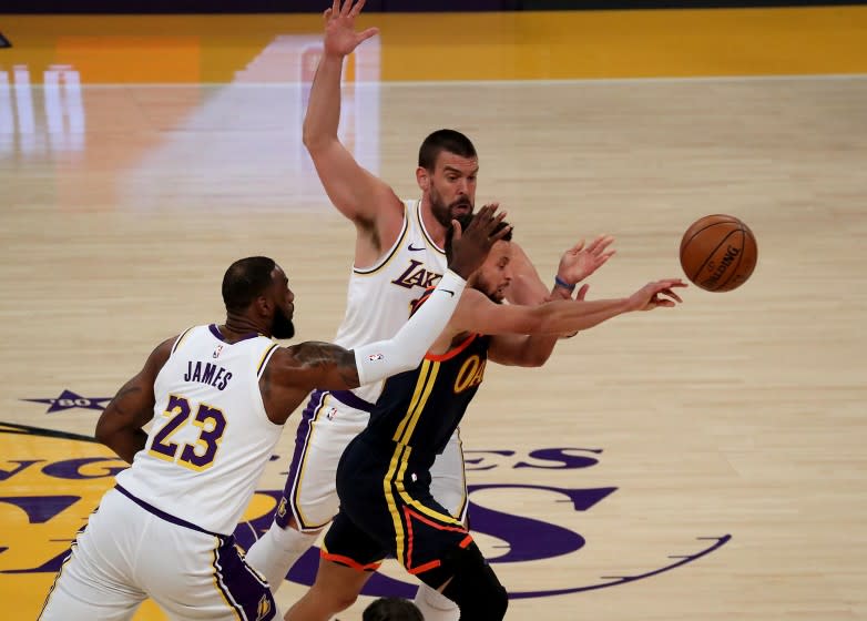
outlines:
[[151, 353], [144, 368], [118, 390], [96, 421], [96, 439], [129, 464], [147, 440], [142, 427], [153, 418], [153, 383], [174, 342], [170, 338]]

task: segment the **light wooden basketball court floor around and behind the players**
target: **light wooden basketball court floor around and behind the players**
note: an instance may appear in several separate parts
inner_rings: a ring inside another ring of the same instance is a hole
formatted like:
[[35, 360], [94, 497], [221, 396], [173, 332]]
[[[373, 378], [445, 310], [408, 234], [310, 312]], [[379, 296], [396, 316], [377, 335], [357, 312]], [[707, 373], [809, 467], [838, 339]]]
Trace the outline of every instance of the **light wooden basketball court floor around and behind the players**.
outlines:
[[[111, 39], [99, 20], [0, 17], [18, 43], [0, 51], [6, 619], [35, 618], [123, 466], [92, 440], [101, 406], [156, 343], [222, 319], [228, 263], [283, 265], [300, 338], [328, 340], [343, 317], [354, 231], [300, 144], [317, 22], [282, 19], [242, 22], [232, 47], [232, 22], [211, 18], [109, 19]], [[575, 240], [616, 237], [590, 297], [681, 276], [681, 234], [702, 215], [737, 215], [758, 240], [735, 292], [690, 288], [540, 369], [489, 367], [462, 438], [508, 618], [867, 619], [865, 12], [467, 17], [462, 44], [481, 34], [455, 59], [511, 54], [487, 69], [432, 61], [430, 31], [456, 18], [419, 19], [384, 17], [345, 85], [343, 140], [400, 195], [418, 194], [424, 136], [465, 131], [478, 203], [509, 210], [545, 279]], [[702, 24], [731, 44], [693, 37]], [[677, 33], [679, 49], [653, 47]], [[591, 48], [596, 62], [575, 60]], [[243, 544], [268, 525], [296, 420]], [[284, 586], [284, 609], [314, 568]], [[340, 618], [412, 590], [391, 563]]]

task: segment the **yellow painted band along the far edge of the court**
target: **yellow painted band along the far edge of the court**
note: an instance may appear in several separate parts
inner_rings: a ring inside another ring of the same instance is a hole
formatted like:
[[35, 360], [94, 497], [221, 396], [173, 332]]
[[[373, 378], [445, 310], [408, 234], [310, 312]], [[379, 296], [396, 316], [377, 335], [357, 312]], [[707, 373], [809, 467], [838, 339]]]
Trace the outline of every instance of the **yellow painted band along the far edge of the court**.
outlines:
[[[71, 65], [86, 83], [231, 82], [318, 16], [0, 17], [0, 68]], [[867, 72], [867, 7], [364, 16], [384, 81]], [[306, 39], [306, 37], [304, 37]], [[274, 62], [279, 62], [274, 55]], [[309, 79], [306, 74], [304, 79]]]

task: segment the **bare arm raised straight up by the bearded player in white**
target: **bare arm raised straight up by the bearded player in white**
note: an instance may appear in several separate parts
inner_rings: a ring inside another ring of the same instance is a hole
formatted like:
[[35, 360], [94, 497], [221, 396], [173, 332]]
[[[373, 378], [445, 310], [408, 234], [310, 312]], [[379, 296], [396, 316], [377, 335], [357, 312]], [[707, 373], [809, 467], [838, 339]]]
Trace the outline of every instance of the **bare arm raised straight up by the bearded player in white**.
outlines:
[[[340, 0], [335, 0], [325, 11], [325, 49], [304, 118], [304, 145], [332, 203], [376, 242], [381, 226], [378, 221], [384, 215], [391, 220], [402, 217], [402, 204], [391, 187], [363, 169], [337, 138], [344, 59], [377, 33], [375, 28], [355, 31], [355, 18], [364, 4], [364, 0], [355, 4], [346, 0], [340, 6]], [[399, 230], [399, 218], [396, 222]]]

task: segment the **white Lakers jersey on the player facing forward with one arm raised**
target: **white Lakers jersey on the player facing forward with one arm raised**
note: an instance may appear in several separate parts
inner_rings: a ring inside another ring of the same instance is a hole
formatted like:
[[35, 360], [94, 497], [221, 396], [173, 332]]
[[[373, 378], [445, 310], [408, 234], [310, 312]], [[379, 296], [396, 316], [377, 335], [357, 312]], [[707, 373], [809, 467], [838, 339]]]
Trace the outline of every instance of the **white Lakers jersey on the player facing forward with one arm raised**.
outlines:
[[[409, 319], [412, 302], [439, 283], [446, 265], [446, 252], [431, 241], [421, 222], [421, 201], [404, 201], [404, 228], [397, 242], [376, 265], [353, 268], [346, 316], [335, 343], [353, 349], [395, 336]], [[382, 383], [353, 391], [374, 404]]]

